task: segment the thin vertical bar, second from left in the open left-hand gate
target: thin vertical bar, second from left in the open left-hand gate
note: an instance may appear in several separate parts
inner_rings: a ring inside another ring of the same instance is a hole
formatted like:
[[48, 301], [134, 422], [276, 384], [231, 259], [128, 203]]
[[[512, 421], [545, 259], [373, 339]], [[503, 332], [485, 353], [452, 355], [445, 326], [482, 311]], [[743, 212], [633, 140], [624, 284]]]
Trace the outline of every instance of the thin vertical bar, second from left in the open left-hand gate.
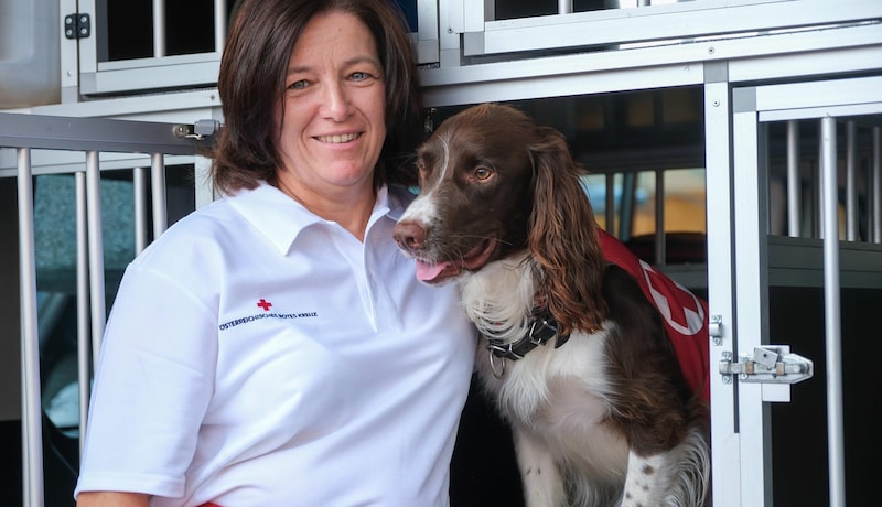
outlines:
[[76, 352], [79, 384], [79, 455], [85, 447], [89, 411], [92, 369], [89, 367], [89, 247], [86, 212], [86, 174], [74, 174], [76, 185]]

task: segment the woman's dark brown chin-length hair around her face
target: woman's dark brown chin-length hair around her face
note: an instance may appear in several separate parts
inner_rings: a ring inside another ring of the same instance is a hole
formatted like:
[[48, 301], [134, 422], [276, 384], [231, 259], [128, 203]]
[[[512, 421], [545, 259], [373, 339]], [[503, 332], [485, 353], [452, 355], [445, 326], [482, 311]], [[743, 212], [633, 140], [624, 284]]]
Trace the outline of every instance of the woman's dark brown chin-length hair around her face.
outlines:
[[386, 84], [386, 141], [374, 186], [413, 184], [408, 162], [422, 140], [419, 82], [404, 15], [392, 0], [245, 0], [220, 60], [217, 90], [224, 127], [212, 151], [212, 180], [224, 192], [275, 182], [279, 168], [276, 105], [284, 95], [288, 60], [318, 14], [346, 12], [374, 36]]

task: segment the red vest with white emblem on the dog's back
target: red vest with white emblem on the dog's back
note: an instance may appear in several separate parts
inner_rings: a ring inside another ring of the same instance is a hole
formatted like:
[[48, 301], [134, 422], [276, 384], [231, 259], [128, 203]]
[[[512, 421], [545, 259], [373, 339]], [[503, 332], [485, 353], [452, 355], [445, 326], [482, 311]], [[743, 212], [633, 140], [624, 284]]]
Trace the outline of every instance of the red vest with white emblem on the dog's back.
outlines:
[[598, 231], [606, 260], [631, 273], [646, 298], [658, 309], [689, 387], [710, 401], [707, 302], [641, 260], [614, 236], [603, 229]]

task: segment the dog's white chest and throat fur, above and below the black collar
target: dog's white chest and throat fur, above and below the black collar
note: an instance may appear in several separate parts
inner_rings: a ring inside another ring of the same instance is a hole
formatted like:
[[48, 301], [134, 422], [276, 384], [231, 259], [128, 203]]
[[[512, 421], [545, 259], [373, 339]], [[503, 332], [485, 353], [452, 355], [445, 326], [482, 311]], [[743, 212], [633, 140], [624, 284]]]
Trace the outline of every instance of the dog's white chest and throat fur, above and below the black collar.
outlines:
[[[504, 260], [461, 281], [469, 316], [484, 335], [517, 341], [526, 332], [525, 311], [536, 294], [525, 261]], [[486, 285], [493, 287], [492, 291]], [[486, 294], [496, 294], [495, 301]], [[603, 399], [610, 386], [605, 375], [606, 332], [572, 336], [556, 349], [553, 341], [523, 359], [494, 358], [481, 347], [477, 368], [485, 388], [516, 429], [541, 441], [559, 461], [592, 470], [595, 476], [621, 481], [627, 468], [627, 442], [605, 418]], [[498, 376], [504, 362], [505, 371]]]

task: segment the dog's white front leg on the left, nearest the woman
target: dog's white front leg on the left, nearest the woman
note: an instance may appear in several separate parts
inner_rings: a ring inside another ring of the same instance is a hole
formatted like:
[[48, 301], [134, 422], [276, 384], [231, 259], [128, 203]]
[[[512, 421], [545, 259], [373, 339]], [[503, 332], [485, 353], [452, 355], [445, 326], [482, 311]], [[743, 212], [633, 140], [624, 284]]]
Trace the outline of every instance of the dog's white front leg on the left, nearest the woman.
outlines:
[[563, 477], [548, 445], [524, 428], [514, 428], [513, 434], [527, 507], [564, 505]]

